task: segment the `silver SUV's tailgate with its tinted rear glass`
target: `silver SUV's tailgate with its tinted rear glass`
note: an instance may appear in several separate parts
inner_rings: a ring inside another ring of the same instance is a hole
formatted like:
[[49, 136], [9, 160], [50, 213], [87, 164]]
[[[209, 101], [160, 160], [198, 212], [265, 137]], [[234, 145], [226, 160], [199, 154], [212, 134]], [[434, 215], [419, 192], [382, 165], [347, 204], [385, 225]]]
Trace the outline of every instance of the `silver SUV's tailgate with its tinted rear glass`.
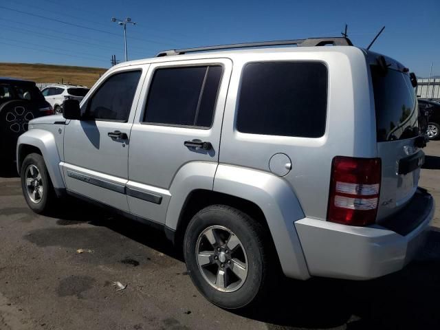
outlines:
[[419, 184], [424, 154], [416, 146], [419, 111], [408, 74], [392, 65], [385, 71], [371, 65], [375, 100], [377, 157], [382, 160], [382, 184], [377, 220], [402, 208]]

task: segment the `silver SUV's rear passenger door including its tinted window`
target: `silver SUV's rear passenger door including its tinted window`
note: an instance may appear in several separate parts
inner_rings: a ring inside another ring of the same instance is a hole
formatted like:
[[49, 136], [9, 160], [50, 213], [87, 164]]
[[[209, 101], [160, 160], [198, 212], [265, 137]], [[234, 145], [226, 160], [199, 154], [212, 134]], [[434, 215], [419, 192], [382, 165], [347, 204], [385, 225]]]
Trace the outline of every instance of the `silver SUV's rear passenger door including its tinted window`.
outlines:
[[189, 175], [188, 166], [209, 164], [204, 168], [212, 173], [203, 174], [212, 188], [231, 71], [226, 58], [151, 65], [131, 129], [127, 199], [133, 214], [164, 223], [170, 186], [179, 173]]

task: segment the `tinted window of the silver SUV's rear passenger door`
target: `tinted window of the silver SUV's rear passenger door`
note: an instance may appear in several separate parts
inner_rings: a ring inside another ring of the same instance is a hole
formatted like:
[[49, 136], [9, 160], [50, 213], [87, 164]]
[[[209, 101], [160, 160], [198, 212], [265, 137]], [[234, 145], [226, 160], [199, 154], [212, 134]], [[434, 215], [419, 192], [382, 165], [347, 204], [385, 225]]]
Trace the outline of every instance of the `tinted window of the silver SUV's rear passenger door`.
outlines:
[[210, 127], [221, 72], [219, 65], [157, 69], [144, 122]]

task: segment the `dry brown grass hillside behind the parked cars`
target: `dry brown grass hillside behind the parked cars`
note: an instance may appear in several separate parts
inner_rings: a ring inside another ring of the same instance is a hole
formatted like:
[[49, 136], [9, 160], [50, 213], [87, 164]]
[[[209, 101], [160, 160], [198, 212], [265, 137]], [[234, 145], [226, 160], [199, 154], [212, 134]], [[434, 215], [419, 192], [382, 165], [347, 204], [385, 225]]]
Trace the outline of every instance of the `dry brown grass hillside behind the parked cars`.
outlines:
[[71, 83], [91, 87], [107, 69], [99, 67], [70, 67], [27, 63], [0, 63], [0, 77], [32, 80], [36, 83]]

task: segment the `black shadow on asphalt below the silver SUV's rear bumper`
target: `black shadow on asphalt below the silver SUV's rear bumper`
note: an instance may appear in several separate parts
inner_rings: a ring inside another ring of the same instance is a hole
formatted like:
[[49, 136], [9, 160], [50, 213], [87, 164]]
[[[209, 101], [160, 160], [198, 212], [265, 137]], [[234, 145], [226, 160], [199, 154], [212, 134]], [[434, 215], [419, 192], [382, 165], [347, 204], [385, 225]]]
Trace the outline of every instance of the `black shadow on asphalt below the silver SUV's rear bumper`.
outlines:
[[243, 316], [269, 329], [440, 329], [440, 230], [404, 270], [372, 281], [285, 280]]

